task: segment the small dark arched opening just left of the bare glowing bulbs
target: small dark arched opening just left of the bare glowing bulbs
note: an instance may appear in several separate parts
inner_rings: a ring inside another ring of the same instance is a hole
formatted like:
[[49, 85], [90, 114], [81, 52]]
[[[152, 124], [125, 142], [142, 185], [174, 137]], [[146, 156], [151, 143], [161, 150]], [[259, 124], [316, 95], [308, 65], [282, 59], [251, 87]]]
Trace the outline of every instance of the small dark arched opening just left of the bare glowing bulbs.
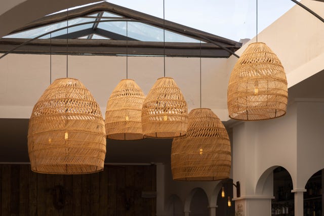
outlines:
[[209, 216], [209, 202], [205, 191], [201, 188], [194, 190], [190, 202], [189, 216]]

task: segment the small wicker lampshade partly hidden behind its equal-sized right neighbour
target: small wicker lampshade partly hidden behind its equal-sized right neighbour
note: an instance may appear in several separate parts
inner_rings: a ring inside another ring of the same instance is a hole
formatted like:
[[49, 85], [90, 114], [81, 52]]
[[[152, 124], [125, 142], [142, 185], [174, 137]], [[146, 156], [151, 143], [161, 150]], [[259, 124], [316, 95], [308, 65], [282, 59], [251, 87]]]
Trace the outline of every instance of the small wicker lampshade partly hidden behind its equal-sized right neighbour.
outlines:
[[106, 135], [113, 140], [140, 140], [145, 96], [133, 79], [121, 80], [107, 102]]

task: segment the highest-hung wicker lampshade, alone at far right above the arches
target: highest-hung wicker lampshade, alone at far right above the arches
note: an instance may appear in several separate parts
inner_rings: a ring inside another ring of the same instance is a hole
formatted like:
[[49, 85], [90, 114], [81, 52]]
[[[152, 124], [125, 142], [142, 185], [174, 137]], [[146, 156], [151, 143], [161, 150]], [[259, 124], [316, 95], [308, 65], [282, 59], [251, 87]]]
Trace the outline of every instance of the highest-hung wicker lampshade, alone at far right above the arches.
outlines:
[[280, 60], [263, 42], [250, 44], [229, 79], [229, 117], [238, 120], [280, 117], [286, 114], [287, 102], [287, 79]]

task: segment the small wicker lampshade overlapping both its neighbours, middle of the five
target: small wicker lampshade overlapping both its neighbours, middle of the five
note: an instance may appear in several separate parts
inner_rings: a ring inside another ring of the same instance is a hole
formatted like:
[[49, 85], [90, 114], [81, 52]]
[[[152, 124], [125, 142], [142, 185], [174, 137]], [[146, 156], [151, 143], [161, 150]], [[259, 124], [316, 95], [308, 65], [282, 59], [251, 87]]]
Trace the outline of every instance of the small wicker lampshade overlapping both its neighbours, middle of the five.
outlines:
[[188, 126], [188, 108], [173, 78], [157, 79], [142, 108], [144, 137], [173, 138], [184, 136]]

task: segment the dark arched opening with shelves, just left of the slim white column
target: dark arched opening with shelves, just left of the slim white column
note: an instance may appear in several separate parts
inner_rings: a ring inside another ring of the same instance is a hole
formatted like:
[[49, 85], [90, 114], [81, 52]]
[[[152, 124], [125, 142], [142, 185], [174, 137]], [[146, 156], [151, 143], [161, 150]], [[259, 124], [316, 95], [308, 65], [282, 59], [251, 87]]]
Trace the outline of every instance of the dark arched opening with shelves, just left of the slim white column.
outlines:
[[271, 202], [271, 215], [294, 215], [293, 181], [282, 166], [273, 170], [273, 196]]

